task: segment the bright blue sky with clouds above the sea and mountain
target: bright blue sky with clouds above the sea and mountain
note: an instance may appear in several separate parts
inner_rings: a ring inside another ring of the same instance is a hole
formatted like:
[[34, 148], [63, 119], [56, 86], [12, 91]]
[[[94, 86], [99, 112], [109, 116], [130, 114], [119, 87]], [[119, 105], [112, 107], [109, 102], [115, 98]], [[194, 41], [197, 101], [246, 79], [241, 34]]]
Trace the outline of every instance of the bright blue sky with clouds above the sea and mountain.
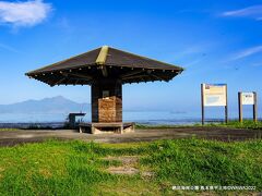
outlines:
[[0, 103], [90, 102], [88, 86], [51, 88], [24, 73], [109, 45], [186, 69], [169, 83], [124, 85], [126, 109], [198, 110], [201, 83], [226, 83], [236, 110], [238, 90], [262, 97], [261, 37], [255, 0], [0, 1]]

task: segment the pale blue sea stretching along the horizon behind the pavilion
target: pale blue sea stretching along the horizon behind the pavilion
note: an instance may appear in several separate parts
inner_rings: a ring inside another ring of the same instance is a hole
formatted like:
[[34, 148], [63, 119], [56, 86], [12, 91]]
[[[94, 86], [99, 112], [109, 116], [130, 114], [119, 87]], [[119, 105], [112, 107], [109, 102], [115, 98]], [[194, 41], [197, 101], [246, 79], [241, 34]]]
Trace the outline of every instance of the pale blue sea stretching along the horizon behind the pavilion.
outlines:
[[[205, 113], [207, 122], [223, 122], [224, 112]], [[250, 117], [247, 117], [250, 118]], [[229, 119], [236, 120], [237, 112], [230, 113]], [[68, 121], [67, 113], [4, 113], [0, 114], [0, 127], [43, 126], [58, 128]], [[91, 113], [78, 118], [79, 122], [91, 122]], [[192, 125], [201, 123], [201, 112], [174, 111], [123, 111], [123, 122], [135, 122], [144, 125]]]

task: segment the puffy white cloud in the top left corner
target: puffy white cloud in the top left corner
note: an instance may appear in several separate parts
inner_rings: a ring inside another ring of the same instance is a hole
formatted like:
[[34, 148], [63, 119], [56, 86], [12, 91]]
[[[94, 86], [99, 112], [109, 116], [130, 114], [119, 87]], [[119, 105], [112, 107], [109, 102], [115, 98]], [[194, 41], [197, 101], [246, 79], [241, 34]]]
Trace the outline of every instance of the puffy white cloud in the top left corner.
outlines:
[[0, 23], [14, 26], [34, 26], [50, 13], [51, 5], [41, 0], [25, 2], [0, 1]]

